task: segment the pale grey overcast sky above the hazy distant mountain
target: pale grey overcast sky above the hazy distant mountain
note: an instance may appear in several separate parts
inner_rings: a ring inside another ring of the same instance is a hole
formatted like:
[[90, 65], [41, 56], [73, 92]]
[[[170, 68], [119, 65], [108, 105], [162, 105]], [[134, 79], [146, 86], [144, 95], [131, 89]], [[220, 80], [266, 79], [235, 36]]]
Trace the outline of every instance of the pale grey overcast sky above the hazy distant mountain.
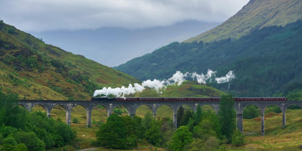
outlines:
[[26, 32], [222, 22], [249, 0], [1, 0], [0, 18]]

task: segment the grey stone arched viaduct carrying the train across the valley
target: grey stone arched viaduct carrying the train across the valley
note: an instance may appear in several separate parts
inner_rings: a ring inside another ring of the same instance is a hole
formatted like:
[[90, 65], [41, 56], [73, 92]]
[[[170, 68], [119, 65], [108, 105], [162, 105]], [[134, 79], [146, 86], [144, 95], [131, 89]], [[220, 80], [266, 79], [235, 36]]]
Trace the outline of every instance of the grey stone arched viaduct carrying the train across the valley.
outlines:
[[[86, 124], [91, 126], [91, 112], [92, 109], [97, 105], [102, 105], [107, 110], [107, 116], [109, 117], [113, 111], [113, 108], [122, 105], [128, 110], [128, 114], [133, 117], [135, 111], [141, 105], [148, 106], [152, 112], [153, 116], [156, 116], [157, 109], [162, 105], [168, 105], [173, 111], [173, 123], [176, 127], [177, 119], [176, 113], [177, 109], [182, 105], [188, 105], [193, 108], [194, 112], [198, 104], [210, 105], [214, 108], [216, 114], [219, 110], [219, 101], [38, 101], [38, 100], [20, 100], [19, 104], [31, 111], [35, 105], [40, 105], [46, 111], [48, 117], [51, 116], [51, 110], [54, 106], [59, 105], [63, 107], [66, 111], [66, 123], [71, 124], [71, 111], [77, 105], [80, 105], [86, 110]], [[282, 110], [282, 126], [286, 124], [285, 111], [291, 105], [298, 105], [302, 107], [302, 101], [235, 101], [234, 108], [237, 113], [237, 129], [243, 132], [243, 109], [248, 105], [256, 105], [261, 111], [261, 134], [264, 135], [264, 110], [268, 105], [277, 105]]]

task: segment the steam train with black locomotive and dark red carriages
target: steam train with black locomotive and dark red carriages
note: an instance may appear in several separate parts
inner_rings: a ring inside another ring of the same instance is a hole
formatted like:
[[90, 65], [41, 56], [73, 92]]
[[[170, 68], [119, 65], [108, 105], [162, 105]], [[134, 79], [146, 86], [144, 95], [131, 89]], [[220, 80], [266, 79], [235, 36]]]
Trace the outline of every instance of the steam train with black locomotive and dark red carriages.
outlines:
[[[220, 98], [91, 98], [91, 101], [219, 101]], [[287, 98], [234, 98], [234, 101], [287, 101]]]

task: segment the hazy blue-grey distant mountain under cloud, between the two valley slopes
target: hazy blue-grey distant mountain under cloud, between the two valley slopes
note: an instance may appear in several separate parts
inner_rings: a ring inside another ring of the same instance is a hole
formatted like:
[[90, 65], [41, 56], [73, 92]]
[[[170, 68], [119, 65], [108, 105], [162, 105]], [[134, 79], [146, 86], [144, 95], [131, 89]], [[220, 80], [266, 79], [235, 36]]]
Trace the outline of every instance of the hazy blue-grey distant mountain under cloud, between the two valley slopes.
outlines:
[[46, 31], [31, 33], [45, 43], [80, 54], [106, 66], [118, 66], [151, 53], [174, 41], [196, 36], [220, 23], [183, 21], [171, 26], [129, 30], [102, 27], [96, 30]]

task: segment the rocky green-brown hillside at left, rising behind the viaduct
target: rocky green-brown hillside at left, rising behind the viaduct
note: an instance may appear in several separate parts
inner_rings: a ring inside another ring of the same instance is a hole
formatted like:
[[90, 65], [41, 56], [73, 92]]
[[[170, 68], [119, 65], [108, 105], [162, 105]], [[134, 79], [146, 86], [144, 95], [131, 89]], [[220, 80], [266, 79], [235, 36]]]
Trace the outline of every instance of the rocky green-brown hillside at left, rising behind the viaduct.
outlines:
[[139, 82], [0, 21], [0, 88], [20, 99], [90, 100], [96, 89]]

